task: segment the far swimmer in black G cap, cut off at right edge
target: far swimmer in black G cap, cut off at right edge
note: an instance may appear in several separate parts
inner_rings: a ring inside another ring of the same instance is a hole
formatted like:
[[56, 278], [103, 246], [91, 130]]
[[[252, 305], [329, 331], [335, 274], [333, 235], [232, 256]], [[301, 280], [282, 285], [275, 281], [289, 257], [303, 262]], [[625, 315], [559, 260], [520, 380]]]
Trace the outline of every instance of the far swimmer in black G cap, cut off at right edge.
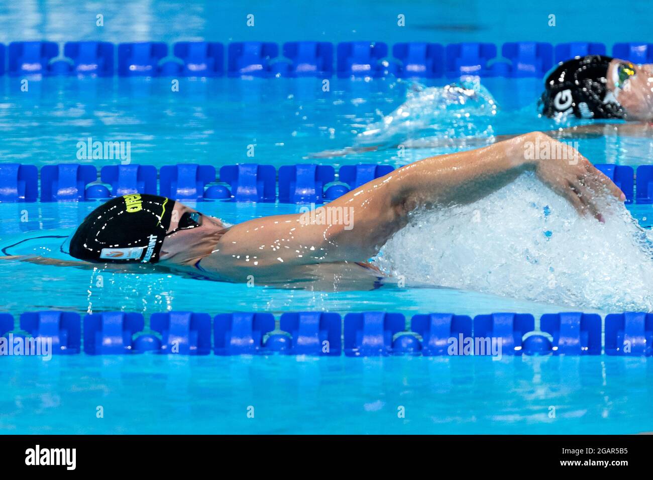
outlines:
[[[653, 136], [653, 65], [634, 65], [612, 57], [590, 55], [558, 64], [545, 78], [538, 101], [542, 116], [564, 120], [627, 120], [628, 123], [590, 123], [548, 131], [550, 136], [594, 138], [607, 135]], [[405, 148], [459, 148], [500, 142], [517, 135], [490, 138], [424, 138], [407, 140]], [[313, 153], [312, 158], [342, 157], [395, 146], [357, 146]]]

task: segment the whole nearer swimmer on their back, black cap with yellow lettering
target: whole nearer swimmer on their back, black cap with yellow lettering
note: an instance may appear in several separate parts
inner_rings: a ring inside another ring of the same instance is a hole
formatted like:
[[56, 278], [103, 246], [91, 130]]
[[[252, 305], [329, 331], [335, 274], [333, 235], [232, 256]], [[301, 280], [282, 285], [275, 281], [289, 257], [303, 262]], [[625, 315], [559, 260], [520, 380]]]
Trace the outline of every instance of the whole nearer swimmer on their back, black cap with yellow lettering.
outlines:
[[[524, 152], [529, 142], [549, 142], [554, 158], [528, 159]], [[70, 254], [84, 262], [25, 260], [108, 264], [127, 271], [130, 266], [165, 268], [229, 282], [253, 278], [257, 285], [302, 287], [297, 283], [311, 282], [315, 289], [340, 289], [351, 278], [374, 283], [383, 274], [368, 259], [413, 213], [474, 202], [527, 171], [569, 200], [579, 214], [599, 221], [611, 197], [625, 199], [571, 146], [534, 132], [411, 163], [316, 209], [313, 216], [267, 216], [229, 226], [165, 197], [116, 197], [93, 210], [72, 235]], [[327, 209], [340, 216], [329, 217]], [[348, 221], [338, 221], [345, 216]]]

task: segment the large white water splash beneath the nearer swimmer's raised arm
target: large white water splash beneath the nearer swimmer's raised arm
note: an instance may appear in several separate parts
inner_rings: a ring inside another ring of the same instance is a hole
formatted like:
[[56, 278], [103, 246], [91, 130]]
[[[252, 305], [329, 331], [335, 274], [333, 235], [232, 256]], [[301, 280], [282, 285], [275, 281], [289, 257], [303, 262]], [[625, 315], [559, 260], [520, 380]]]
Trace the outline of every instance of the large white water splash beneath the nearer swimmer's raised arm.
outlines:
[[441, 285], [570, 308], [653, 311], [653, 236], [622, 205], [579, 217], [532, 174], [473, 204], [424, 212], [376, 263]]

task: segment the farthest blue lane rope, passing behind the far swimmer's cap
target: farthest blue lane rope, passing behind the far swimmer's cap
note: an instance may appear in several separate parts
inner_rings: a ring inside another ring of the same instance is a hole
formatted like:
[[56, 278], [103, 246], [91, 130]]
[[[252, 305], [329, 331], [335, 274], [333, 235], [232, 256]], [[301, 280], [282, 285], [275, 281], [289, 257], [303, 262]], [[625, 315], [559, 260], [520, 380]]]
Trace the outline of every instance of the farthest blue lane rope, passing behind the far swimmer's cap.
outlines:
[[[597, 42], [464, 42], [446, 46], [400, 42], [390, 50], [378, 41], [286, 42], [56, 42], [0, 44], [0, 74], [10, 76], [182, 76], [182, 77], [302, 77], [441, 78], [460, 75], [539, 77], [555, 63], [575, 56], [605, 55]], [[334, 54], [335, 52], [335, 54]], [[613, 56], [633, 63], [653, 63], [653, 44], [622, 42]], [[7, 58], [7, 62], [5, 62]], [[6, 68], [5, 68], [6, 66]]]

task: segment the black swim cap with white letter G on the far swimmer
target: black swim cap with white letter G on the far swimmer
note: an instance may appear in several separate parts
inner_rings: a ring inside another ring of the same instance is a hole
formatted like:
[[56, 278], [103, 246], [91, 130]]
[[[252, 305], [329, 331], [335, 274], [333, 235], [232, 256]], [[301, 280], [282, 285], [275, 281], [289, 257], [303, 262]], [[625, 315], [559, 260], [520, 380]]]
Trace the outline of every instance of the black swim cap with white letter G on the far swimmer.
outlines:
[[547, 117], [571, 113], [578, 118], [623, 118], [624, 110], [607, 88], [611, 57], [590, 55], [561, 62], [545, 80], [539, 101]]

